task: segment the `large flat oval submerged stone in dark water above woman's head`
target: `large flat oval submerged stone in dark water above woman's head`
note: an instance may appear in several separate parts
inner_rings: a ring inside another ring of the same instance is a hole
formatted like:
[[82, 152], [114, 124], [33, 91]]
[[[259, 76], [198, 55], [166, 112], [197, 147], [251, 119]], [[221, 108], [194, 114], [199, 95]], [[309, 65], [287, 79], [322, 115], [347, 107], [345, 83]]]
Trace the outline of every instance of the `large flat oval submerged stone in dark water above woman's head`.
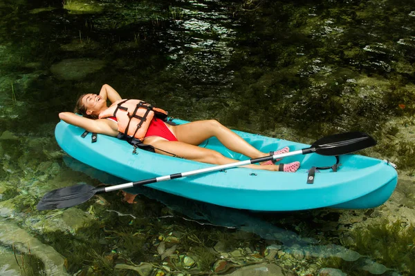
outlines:
[[64, 59], [50, 66], [50, 72], [59, 79], [75, 81], [101, 70], [104, 65], [100, 59]]

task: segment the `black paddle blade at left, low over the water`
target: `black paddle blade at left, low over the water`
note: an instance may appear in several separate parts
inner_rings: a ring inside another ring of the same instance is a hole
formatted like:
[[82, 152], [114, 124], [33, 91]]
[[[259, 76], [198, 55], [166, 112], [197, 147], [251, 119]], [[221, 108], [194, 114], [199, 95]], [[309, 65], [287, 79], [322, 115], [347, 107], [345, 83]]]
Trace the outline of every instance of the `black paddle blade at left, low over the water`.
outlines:
[[60, 188], [46, 193], [36, 208], [37, 210], [68, 208], [82, 204], [94, 195], [95, 187], [86, 184]]

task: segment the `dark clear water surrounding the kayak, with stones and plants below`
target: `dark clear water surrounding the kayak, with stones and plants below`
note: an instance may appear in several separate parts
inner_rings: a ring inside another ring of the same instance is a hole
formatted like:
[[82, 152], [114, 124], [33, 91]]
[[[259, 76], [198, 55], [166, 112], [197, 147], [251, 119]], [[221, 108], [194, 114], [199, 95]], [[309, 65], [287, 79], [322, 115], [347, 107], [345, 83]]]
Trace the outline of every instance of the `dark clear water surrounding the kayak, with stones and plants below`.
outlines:
[[[415, 274], [413, 0], [0, 0], [0, 23], [0, 275]], [[104, 83], [304, 143], [368, 132], [362, 154], [398, 164], [398, 186], [370, 210], [249, 213], [142, 188], [37, 211], [54, 188], [122, 183], [53, 133]]]

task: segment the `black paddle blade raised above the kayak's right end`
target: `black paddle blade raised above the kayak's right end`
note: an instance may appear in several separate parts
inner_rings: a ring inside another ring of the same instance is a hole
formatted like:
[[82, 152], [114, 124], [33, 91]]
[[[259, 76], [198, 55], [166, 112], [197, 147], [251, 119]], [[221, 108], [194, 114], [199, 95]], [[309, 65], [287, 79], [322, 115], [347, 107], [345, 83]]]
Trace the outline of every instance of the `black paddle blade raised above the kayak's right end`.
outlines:
[[363, 132], [345, 132], [318, 139], [311, 145], [319, 155], [345, 155], [376, 145], [376, 140]]

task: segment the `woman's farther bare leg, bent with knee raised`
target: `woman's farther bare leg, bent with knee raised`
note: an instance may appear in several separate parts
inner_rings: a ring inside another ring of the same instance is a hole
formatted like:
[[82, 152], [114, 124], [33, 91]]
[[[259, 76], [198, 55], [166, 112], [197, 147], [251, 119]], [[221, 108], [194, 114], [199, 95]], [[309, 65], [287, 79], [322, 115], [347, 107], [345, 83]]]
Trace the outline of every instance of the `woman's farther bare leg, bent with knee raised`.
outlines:
[[250, 158], [269, 155], [257, 150], [239, 135], [216, 120], [193, 121], [192, 123], [174, 126], [173, 129], [178, 141], [186, 144], [197, 146], [210, 137], [216, 137], [226, 148]]

